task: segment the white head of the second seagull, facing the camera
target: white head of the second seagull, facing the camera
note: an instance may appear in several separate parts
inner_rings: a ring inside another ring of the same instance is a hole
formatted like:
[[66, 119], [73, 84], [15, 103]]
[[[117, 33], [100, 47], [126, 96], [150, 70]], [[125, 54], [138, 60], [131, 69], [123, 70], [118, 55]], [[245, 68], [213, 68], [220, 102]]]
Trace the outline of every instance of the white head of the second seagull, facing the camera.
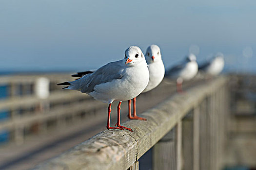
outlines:
[[146, 61], [148, 64], [162, 60], [160, 48], [157, 45], [151, 45], [146, 51]]

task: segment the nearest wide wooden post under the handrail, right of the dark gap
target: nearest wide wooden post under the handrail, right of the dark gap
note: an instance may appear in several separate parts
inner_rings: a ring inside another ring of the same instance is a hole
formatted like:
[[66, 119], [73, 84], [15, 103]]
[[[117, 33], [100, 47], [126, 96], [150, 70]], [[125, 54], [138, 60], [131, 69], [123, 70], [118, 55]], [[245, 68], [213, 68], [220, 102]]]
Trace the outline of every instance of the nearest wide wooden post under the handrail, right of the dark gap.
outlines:
[[176, 128], [153, 147], [153, 170], [177, 170]]

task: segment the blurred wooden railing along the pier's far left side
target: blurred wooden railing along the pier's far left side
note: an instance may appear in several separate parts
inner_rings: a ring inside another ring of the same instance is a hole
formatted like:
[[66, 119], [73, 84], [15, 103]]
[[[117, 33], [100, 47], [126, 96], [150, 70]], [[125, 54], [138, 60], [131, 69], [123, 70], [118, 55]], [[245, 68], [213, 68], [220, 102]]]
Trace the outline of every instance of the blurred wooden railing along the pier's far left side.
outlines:
[[[45, 98], [40, 98], [36, 94], [37, 82], [41, 78], [48, 81], [46, 89], [49, 95]], [[8, 133], [10, 134], [8, 141], [14, 140], [17, 144], [22, 144], [25, 130], [26, 134], [45, 132], [49, 121], [53, 120], [57, 122], [56, 124], [63, 125], [67, 117], [72, 119], [79, 114], [105, 106], [104, 103], [94, 101], [86, 94], [61, 90], [61, 87], [56, 85], [66, 80], [73, 78], [70, 74], [0, 77], [0, 86], [6, 87], [7, 94], [4, 99], [0, 99], [0, 113], [8, 114], [6, 118], [0, 120], [0, 133]], [[33, 126], [37, 126], [37, 130], [31, 130]]]

